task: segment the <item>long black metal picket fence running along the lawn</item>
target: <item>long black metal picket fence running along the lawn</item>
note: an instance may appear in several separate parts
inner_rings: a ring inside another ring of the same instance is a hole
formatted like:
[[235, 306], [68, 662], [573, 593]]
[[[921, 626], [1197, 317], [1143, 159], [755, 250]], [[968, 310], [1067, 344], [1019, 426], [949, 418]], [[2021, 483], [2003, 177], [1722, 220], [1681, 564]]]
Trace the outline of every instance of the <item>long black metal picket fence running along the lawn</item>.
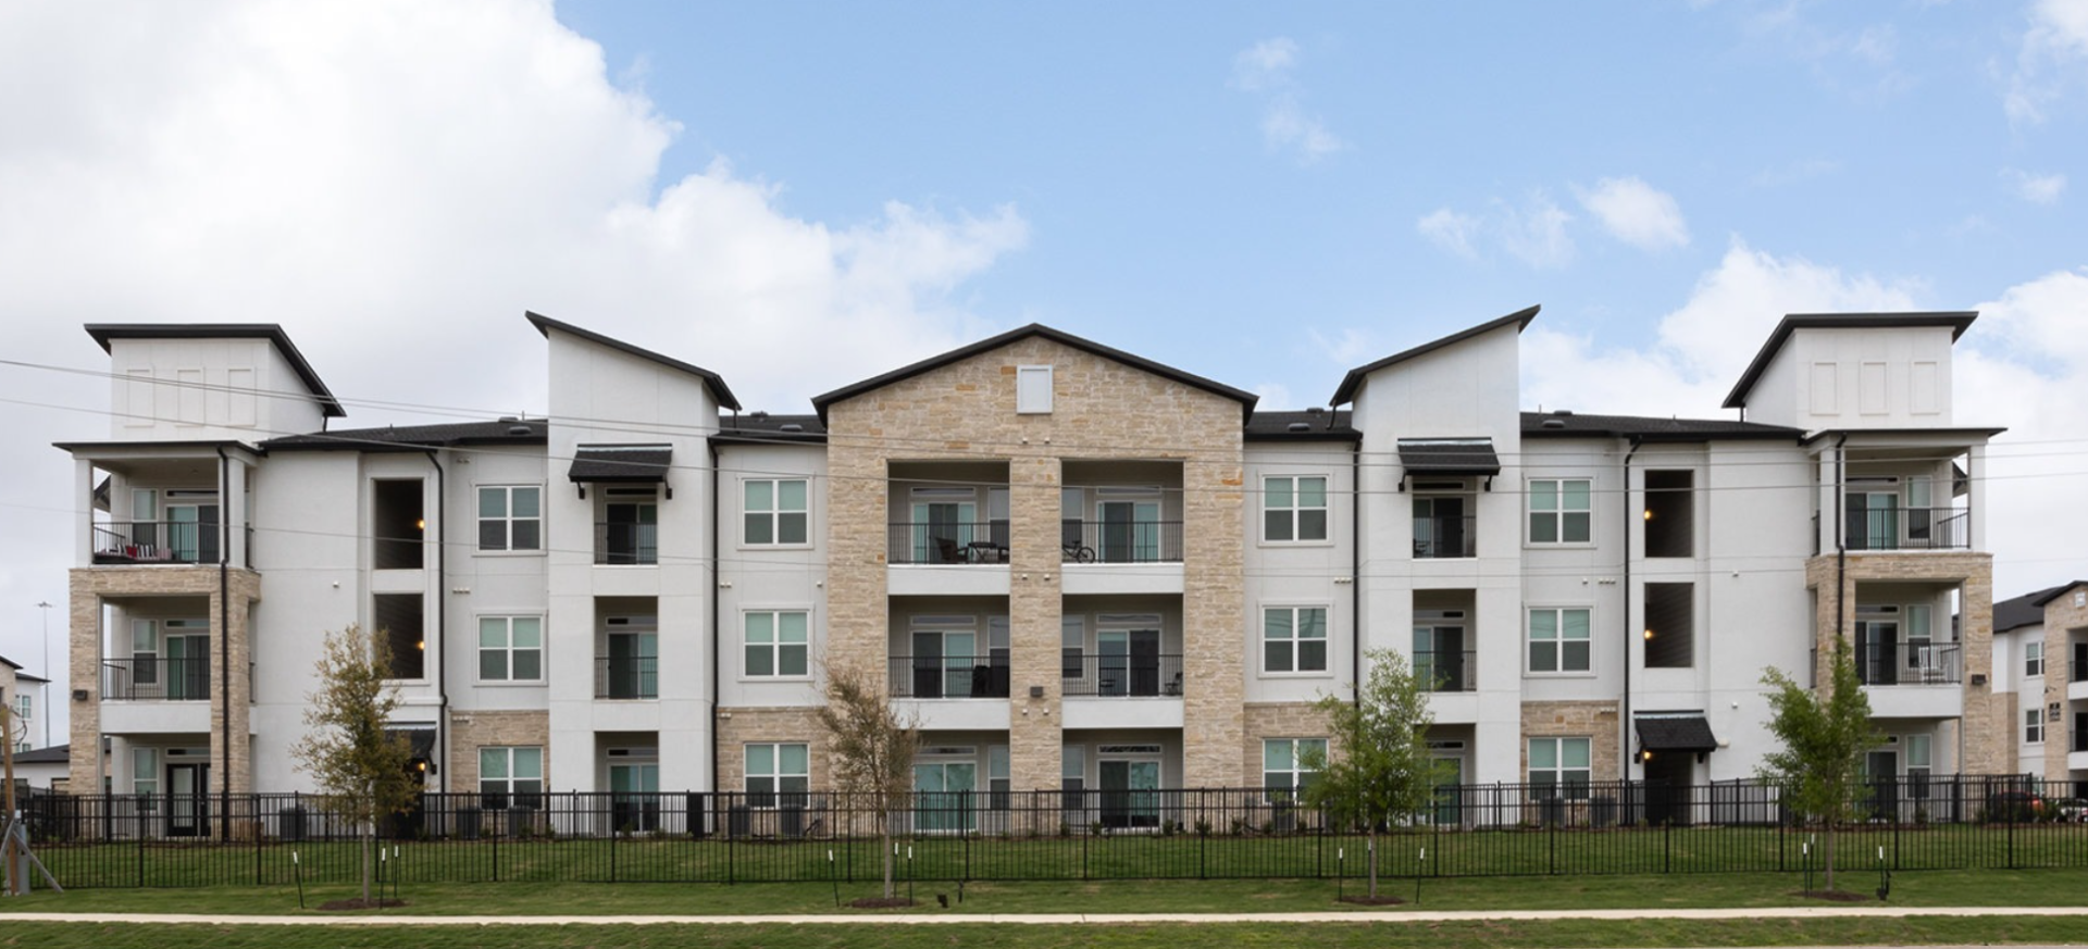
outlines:
[[[1395, 876], [1802, 872], [1819, 830], [1752, 782], [1445, 786], [1378, 836]], [[2055, 797], [2048, 797], [2046, 793]], [[1879, 782], [1840, 830], [1844, 868], [2082, 868], [2069, 786]], [[65, 886], [271, 886], [357, 878], [355, 826], [305, 795], [33, 795], [38, 857]], [[1286, 790], [917, 793], [885, 816], [921, 880], [1334, 878], [1368, 872], [1359, 828]], [[416, 882], [877, 880], [879, 813], [844, 795], [424, 795], [382, 822], [386, 876]]]

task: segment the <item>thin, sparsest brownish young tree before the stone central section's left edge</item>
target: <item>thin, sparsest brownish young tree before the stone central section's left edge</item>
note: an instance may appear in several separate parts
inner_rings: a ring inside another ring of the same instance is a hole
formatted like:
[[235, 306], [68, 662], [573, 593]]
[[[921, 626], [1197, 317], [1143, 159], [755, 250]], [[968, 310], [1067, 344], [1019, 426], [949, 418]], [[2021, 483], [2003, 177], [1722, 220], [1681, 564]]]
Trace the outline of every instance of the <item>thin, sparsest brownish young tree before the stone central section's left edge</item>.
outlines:
[[818, 709], [818, 724], [833, 743], [833, 782], [850, 801], [871, 805], [885, 855], [885, 899], [898, 899], [892, 824], [906, 811], [912, 795], [921, 726], [902, 720], [885, 690], [860, 667], [829, 665], [825, 672], [827, 705]]

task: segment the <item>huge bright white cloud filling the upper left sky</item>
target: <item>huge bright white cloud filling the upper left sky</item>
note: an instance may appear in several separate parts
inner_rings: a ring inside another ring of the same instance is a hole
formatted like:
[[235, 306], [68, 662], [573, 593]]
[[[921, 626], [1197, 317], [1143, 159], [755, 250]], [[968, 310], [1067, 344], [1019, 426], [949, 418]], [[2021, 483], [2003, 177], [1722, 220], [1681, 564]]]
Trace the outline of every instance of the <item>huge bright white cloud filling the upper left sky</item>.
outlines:
[[[345, 398], [543, 411], [537, 309], [808, 411], [988, 330], [956, 292], [1027, 240], [1009, 206], [804, 219], [722, 161], [656, 181], [679, 125], [541, 0], [0, 4], [0, 115], [6, 350], [31, 363], [106, 367], [90, 321], [269, 321]], [[71, 463], [35, 446], [106, 425], [23, 403], [106, 400], [0, 369], [10, 532], [67, 536]], [[63, 597], [69, 557], [0, 553], [0, 601]]]

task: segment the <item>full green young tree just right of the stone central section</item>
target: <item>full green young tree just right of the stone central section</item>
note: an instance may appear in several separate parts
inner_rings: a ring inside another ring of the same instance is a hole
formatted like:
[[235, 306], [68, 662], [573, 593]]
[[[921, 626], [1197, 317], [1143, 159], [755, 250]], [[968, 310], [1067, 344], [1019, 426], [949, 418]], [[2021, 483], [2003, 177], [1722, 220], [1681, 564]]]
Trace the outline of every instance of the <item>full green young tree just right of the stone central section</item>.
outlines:
[[1307, 807], [1363, 826], [1370, 841], [1370, 899], [1378, 899], [1378, 828], [1403, 824], [1428, 809], [1437, 763], [1428, 757], [1428, 692], [1391, 649], [1366, 653], [1370, 678], [1355, 701], [1322, 695], [1332, 753], [1305, 749], [1303, 765], [1320, 772], [1301, 790]]

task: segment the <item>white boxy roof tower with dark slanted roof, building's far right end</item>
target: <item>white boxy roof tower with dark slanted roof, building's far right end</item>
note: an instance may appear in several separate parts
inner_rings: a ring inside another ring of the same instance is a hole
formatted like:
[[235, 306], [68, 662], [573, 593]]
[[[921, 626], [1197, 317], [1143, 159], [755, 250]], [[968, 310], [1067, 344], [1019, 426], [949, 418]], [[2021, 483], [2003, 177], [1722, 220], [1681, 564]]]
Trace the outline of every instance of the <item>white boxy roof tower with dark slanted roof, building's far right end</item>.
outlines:
[[1725, 407], [1806, 432], [1950, 428], [1950, 346], [1975, 317], [1787, 315]]

